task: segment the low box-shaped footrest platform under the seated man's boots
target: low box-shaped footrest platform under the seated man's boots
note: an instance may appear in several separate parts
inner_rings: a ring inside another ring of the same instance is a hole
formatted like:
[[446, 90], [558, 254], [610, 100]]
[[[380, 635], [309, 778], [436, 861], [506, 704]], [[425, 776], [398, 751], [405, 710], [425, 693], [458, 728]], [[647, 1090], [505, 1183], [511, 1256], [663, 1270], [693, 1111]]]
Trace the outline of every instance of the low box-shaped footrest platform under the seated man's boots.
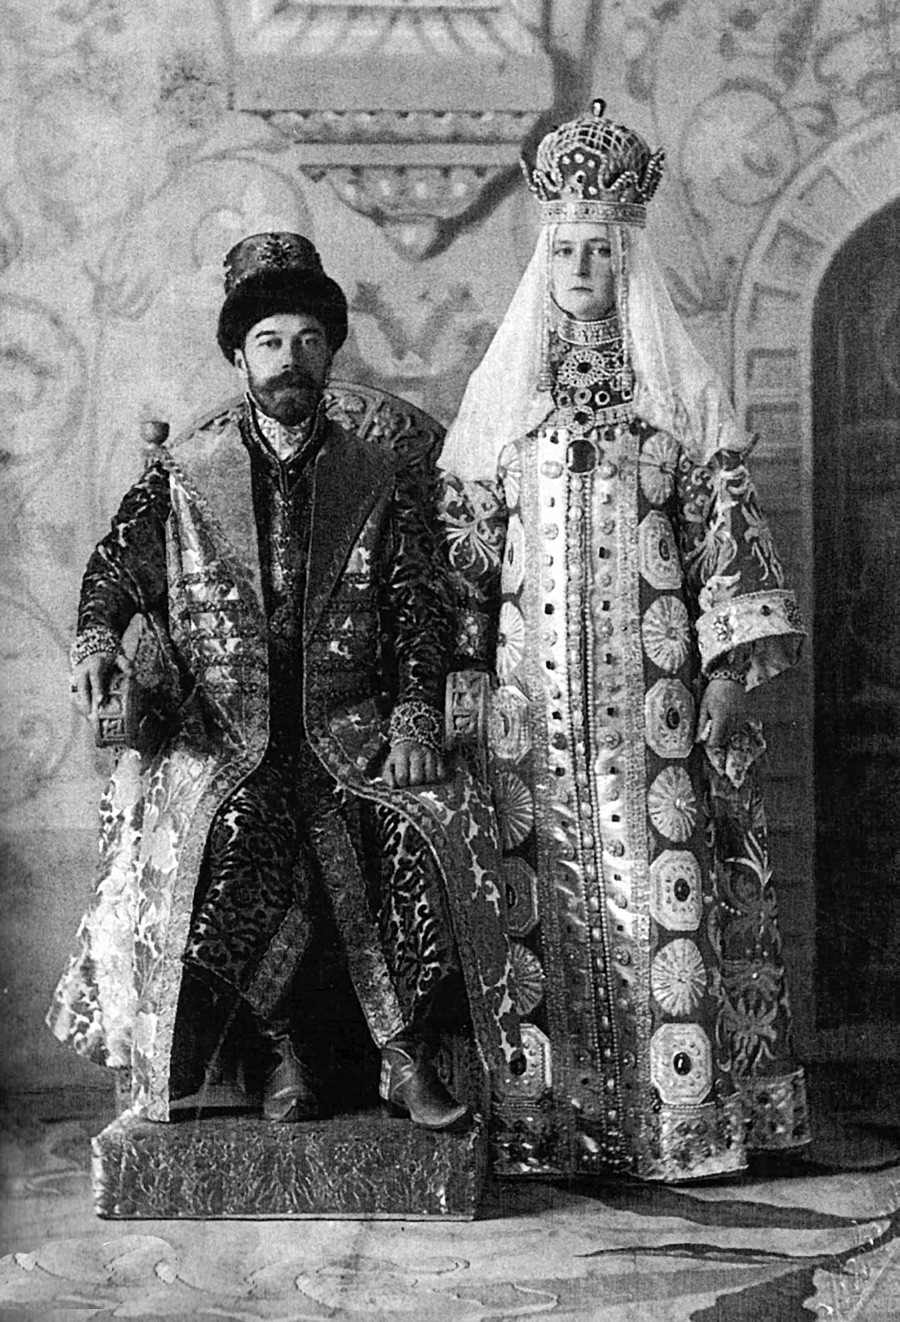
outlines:
[[126, 1112], [93, 1147], [98, 1216], [141, 1220], [472, 1220], [488, 1163], [480, 1120], [441, 1134], [378, 1112], [303, 1125]]

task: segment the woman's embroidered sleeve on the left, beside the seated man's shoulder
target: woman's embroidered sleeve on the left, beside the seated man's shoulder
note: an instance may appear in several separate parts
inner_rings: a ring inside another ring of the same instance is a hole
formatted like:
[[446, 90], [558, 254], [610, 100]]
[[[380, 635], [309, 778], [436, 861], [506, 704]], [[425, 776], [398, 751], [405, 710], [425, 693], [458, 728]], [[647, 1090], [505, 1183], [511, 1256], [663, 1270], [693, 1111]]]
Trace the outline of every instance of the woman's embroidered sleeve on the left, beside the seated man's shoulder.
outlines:
[[502, 486], [441, 473], [439, 510], [453, 594], [455, 668], [493, 669], [506, 545]]

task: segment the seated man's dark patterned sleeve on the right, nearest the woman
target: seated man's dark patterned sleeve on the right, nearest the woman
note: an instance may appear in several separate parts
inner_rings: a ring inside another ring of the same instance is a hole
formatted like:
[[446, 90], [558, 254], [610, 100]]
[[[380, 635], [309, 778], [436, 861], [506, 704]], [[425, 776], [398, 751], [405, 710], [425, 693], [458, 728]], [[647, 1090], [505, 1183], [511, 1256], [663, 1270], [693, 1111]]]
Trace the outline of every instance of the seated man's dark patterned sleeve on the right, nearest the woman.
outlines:
[[[433, 465], [404, 465], [395, 477], [390, 535], [379, 572], [383, 654], [394, 674], [391, 738], [433, 740], [443, 727], [451, 652], [447, 558], [436, 517]], [[432, 718], [433, 714], [433, 718]]]

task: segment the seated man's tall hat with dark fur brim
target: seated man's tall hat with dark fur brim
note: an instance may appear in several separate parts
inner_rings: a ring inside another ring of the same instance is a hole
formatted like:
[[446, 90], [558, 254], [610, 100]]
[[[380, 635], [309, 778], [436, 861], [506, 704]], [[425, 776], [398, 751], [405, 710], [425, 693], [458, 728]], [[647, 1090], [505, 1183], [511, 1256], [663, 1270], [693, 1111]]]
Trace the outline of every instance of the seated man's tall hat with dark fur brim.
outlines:
[[303, 234], [251, 234], [225, 258], [225, 303], [218, 342], [234, 362], [247, 332], [279, 312], [309, 313], [325, 328], [332, 353], [346, 340], [344, 290], [322, 270], [321, 258]]

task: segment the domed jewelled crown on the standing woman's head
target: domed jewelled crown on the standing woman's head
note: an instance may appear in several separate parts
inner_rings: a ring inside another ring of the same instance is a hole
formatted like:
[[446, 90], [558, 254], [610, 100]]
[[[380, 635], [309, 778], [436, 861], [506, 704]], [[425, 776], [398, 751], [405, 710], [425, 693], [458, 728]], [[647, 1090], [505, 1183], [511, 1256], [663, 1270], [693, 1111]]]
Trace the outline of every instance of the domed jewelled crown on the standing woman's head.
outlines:
[[570, 119], [542, 139], [534, 165], [522, 160], [546, 223], [646, 222], [665, 152], [652, 152], [633, 128], [607, 119], [605, 110], [605, 102], [595, 100], [589, 115]]

